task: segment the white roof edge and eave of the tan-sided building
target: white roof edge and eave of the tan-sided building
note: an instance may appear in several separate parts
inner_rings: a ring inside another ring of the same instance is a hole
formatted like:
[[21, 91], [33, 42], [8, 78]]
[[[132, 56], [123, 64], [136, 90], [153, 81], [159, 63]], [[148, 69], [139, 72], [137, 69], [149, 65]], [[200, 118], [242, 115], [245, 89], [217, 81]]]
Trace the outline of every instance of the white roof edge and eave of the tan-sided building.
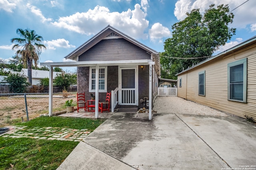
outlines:
[[225, 55], [228, 55], [229, 53], [234, 53], [235, 51], [243, 49], [243, 48], [245, 48], [245, 47], [247, 47], [247, 46], [249, 46], [251, 44], [254, 44], [254, 43], [256, 43], [256, 36], [251, 37], [250, 39], [247, 39], [246, 41], [243, 41], [242, 43], [239, 43], [238, 45], [235, 45], [234, 47], [231, 47], [230, 49], [227, 49], [226, 51], [223, 51], [222, 53], [220, 53], [218, 55], [210, 57], [209, 59], [206, 59], [206, 60], [202, 61], [201, 63], [198, 63], [198, 64], [196, 64], [196, 65], [194, 65], [194, 66], [192, 66], [190, 68], [187, 68], [186, 70], [183, 70], [182, 72], [179, 72], [178, 74], [176, 74], [176, 76], [178, 76], [179, 74], [182, 74], [182, 73], [184, 73], [184, 72], [186, 72], [188, 70], [196, 68], [196, 67], [198, 67], [198, 66], [200, 66], [200, 65], [202, 65], [204, 63], [208, 63], [208, 62], [210, 62], [210, 61], [212, 61], [214, 59], [221, 58], [221, 57], [223, 57]]

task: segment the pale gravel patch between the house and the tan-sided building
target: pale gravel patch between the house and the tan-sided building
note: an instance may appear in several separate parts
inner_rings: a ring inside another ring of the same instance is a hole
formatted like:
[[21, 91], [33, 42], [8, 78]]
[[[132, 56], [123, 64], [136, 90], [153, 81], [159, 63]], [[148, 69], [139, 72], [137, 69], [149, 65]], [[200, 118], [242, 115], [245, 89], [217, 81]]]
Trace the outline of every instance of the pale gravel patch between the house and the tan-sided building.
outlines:
[[192, 115], [228, 116], [226, 113], [208, 106], [187, 101], [179, 97], [158, 97], [154, 108], [157, 113], [182, 113]]

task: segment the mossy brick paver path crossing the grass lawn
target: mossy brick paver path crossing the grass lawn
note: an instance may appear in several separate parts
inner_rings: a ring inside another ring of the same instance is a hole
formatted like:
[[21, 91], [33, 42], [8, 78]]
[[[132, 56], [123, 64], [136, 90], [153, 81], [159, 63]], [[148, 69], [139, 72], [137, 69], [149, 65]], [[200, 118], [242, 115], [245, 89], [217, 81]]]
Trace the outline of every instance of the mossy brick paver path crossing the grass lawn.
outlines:
[[27, 129], [27, 126], [9, 126], [10, 131], [1, 134], [2, 137], [30, 137], [34, 139], [48, 139], [60, 141], [80, 141], [84, 139], [90, 131], [88, 129], [70, 129], [68, 127], [34, 127]]

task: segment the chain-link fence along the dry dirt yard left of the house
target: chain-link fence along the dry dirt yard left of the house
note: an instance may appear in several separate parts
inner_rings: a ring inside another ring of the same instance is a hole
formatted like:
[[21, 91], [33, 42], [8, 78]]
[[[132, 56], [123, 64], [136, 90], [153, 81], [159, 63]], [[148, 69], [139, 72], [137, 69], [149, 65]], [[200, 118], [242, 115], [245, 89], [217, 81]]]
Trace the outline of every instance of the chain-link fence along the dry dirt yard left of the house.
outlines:
[[[53, 112], [66, 110], [65, 102], [71, 99], [76, 104], [76, 92], [54, 93]], [[48, 114], [48, 111], [48, 93], [0, 94], [0, 127], [27, 121], [26, 113], [28, 119], [33, 119], [40, 114]]]

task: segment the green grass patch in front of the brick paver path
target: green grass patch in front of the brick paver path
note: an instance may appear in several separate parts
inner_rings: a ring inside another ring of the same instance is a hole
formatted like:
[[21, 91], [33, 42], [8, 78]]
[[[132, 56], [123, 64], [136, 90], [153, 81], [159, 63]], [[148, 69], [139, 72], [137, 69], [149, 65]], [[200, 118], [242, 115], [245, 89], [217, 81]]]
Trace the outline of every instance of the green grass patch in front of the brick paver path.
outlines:
[[55, 170], [78, 143], [0, 137], [0, 170]]

